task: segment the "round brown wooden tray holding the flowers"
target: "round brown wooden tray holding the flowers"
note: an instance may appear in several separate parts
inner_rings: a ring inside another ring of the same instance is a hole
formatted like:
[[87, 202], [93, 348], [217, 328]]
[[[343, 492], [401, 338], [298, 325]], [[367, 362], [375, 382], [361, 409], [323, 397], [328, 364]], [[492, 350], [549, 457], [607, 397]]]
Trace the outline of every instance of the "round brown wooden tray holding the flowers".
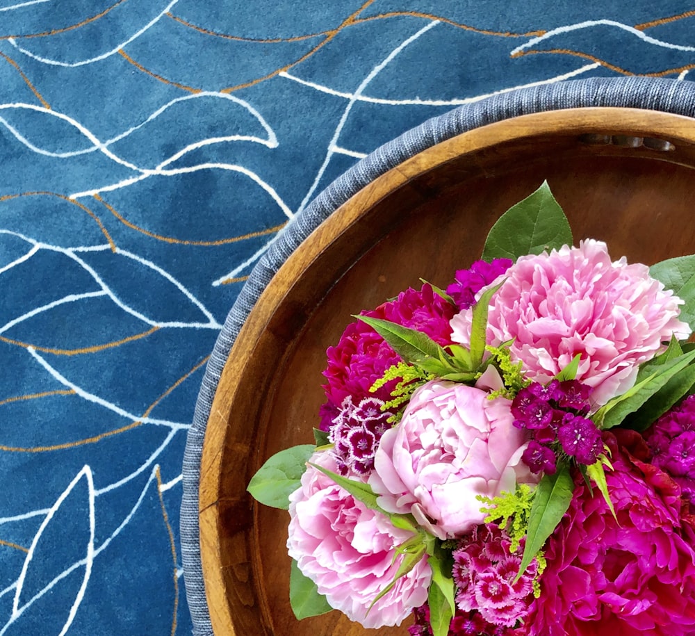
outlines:
[[[423, 277], [446, 286], [493, 222], [547, 179], [575, 240], [655, 263], [695, 252], [695, 120], [623, 108], [525, 115], [461, 134], [375, 179], [284, 263], [238, 336], [213, 403], [199, 490], [215, 635], [375, 633], [339, 612], [297, 622], [288, 514], [246, 486], [265, 459], [312, 443], [325, 350], [361, 309]], [[405, 626], [379, 635], [404, 635]]]

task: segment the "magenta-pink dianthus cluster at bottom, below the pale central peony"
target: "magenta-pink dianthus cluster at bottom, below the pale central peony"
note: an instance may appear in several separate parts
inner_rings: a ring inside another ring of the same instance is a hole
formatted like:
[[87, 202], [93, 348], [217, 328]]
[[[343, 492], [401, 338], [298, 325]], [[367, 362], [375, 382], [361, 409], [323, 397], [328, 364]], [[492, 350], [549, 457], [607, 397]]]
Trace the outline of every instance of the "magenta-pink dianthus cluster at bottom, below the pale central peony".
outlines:
[[477, 525], [471, 535], [459, 541], [454, 557], [453, 576], [459, 610], [477, 610], [495, 626], [513, 627], [523, 620], [533, 601], [533, 580], [537, 563], [531, 562], [515, 582], [521, 566], [523, 541], [510, 552], [512, 539], [498, 525]]

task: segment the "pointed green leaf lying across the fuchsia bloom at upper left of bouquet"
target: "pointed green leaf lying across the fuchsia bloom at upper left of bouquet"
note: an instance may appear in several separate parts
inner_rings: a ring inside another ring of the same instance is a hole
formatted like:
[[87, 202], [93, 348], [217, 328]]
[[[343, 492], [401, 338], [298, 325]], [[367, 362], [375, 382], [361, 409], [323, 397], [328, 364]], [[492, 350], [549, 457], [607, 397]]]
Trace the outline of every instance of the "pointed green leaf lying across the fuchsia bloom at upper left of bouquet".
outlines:
[[427, 334], [372, 316], [354, 318], [359, 318], [372, 327], [409, 364], [439, 376], [459, 370], [452, 366], [453, 358]]

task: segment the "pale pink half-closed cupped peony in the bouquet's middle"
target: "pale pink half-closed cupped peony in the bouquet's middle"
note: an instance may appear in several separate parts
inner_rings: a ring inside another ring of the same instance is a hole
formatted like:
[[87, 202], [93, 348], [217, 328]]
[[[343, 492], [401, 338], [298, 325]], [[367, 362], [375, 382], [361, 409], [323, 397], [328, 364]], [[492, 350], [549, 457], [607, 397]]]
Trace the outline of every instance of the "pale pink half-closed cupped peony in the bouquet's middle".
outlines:
[[375, 454], [370, 484], [384, 509], [411, 512], [440, 539], [459, 537], [484, 519], [477, 495], [537, 481], [521, 461], [524, 433], [514, 427], [511, 402], [487, 397], [441, 380], [415, 391]]

